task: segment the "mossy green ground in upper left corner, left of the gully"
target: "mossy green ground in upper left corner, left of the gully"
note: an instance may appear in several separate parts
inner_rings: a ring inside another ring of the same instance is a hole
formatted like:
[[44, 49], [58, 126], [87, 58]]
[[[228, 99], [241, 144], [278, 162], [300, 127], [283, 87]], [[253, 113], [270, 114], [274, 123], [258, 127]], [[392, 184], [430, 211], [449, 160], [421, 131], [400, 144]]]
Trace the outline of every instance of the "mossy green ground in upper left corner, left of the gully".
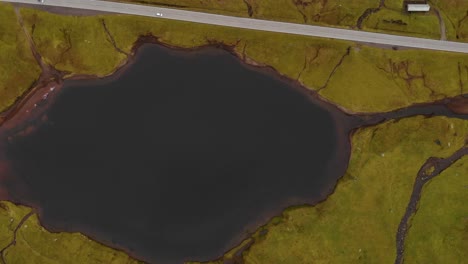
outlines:
[[0, 111], [12, 105], [39, 74], [13, 7], [0, 3]]

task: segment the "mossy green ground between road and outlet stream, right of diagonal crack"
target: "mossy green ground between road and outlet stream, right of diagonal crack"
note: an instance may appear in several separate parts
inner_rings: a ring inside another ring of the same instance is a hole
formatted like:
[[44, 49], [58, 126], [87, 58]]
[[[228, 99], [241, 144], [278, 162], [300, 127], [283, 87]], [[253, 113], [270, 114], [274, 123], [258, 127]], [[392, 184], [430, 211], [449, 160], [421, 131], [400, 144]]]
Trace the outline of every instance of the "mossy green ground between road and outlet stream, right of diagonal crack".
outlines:
[[351, 50], [320, 94], [352, 111], [390, 111], [466, 93], [465, 65], [461, 54], [363, 46]]

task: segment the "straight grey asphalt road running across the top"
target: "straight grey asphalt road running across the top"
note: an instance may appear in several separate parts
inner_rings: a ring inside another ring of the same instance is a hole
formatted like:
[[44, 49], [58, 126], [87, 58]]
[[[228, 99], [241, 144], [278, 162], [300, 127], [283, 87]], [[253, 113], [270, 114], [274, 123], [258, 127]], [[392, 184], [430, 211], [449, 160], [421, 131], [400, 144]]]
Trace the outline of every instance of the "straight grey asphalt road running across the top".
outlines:
[[[468, 53], [468, 43], [404, 37], [390, 34], [301, 25], [251, 18], [223, 16], [136, 4], [125, 4], [95, 0], [45, 0], [44, 3], [40, 3], [37, 0], [6, 0], [4, 2], [79, 8], [112, 13], [155, 17], [157, 19], [173, 19], [210, 25], [289, 33], [321, 38], [350, 40], [355, 42], [365, 42], [373, 44], [383, 44], [396, 47]], [[163, 17], [158, 17], [156, 13], [162, 13]]]

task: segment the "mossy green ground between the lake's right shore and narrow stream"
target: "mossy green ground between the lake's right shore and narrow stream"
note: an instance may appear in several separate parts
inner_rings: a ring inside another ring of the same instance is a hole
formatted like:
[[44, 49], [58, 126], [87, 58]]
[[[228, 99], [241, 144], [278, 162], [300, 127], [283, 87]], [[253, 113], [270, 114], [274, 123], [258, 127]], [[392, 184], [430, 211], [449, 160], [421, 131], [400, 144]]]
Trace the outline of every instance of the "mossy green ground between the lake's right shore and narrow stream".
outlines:
[[[246, 263], [393, 263], [396, 230], [418, 170], [430, 156], [455, 152], [467, 131], [468, 122], [444, 117], [358, 130], [349, 169], [335, 192], [316, 206], [286, 210], [280, 223], [267, 224], [266, 237], [246, 253]], [[437, 138], [450, 146], [434, 143]]]

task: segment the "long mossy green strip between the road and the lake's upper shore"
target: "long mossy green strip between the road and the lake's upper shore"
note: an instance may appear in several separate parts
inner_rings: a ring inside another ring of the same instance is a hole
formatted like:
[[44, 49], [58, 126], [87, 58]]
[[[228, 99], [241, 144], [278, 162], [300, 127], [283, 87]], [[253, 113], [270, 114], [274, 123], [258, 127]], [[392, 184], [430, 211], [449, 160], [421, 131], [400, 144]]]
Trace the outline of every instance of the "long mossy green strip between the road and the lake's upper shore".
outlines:
[[463, 54], [395, 51], [123, 15], [73, 17], [32, 9], [21, 13], [45, 60], [72, 74], [110, 74], [125, 61], [140, 35], [153, 35], [162, 43], [182, 48], [231, 47], [240, 58], [271, 66], [349, 112], [391, 111], [467, 90], [468, 56]]

